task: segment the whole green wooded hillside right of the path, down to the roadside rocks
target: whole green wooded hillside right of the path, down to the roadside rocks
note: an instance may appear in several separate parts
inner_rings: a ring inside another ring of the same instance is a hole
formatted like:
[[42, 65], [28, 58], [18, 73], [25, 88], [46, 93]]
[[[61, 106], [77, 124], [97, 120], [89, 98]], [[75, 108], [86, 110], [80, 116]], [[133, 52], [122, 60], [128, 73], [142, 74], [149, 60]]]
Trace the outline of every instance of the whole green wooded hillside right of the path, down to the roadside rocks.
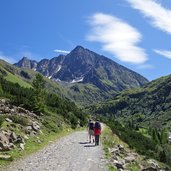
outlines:
[[170, 165], [170, 90], [169, 75], [142, 88], [124, 91], [109, 101], [91, 106], [89, 111], [104, 116], [113, 133], [138, 153]]

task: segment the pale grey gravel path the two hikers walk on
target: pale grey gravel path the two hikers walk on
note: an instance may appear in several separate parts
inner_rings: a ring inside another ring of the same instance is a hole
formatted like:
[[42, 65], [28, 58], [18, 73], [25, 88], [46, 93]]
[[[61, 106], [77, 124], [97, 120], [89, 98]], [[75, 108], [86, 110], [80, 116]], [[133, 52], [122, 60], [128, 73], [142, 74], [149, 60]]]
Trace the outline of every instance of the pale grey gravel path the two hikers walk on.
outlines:
[[15, 161], [7, 171], [107, 171], [102, 146], [89, 144], [87, 138], [86, 131], [74, 132]]

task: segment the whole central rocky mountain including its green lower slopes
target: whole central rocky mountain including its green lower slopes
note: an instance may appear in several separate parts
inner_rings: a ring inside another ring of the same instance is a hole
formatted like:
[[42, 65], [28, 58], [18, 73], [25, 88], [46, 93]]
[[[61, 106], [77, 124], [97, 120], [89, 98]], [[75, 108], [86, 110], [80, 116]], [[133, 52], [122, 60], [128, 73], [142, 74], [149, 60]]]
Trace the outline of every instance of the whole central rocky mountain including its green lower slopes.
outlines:
[[148, 83], [140, 74], [81, 46], [65, 56], [40, 62], [23, 58], [15, 66], [36, 70], [68, 87], [70, 98], [84, 104], [102, 101], [124, 89]]

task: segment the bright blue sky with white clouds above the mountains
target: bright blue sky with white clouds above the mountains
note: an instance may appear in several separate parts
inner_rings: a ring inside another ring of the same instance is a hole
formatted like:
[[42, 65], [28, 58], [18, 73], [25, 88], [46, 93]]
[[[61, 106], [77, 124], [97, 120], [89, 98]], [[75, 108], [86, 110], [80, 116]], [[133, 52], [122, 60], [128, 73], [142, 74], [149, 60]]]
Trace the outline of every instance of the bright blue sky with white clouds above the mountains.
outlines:
[[149, 80], [171, 74], [171, 0], [1, 0], [0, 59], [81, 45]]

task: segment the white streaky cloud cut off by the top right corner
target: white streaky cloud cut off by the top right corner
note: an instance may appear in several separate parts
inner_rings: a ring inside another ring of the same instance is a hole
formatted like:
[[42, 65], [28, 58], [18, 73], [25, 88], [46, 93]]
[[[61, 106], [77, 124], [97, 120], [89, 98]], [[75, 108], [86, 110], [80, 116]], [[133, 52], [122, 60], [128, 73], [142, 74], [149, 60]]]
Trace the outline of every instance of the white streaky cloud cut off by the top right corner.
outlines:
[[164, 8], [156, 0], [126, 0], [131, 6], [150, 19], [151, 24], [171, 34], [171, 10]]

